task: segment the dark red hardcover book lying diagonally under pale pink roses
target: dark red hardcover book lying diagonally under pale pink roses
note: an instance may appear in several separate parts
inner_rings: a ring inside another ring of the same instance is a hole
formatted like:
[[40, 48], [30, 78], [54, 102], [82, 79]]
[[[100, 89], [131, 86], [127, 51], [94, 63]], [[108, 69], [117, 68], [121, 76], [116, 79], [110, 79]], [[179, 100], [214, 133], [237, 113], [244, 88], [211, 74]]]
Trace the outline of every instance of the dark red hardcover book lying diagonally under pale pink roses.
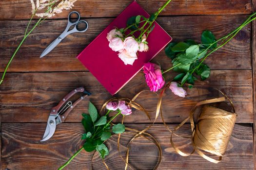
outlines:
[[118, 52], [109, 48], [106, 37], [115, 27], [126, 27], [128, 18], [138, 15], [149, 17], [149, 14], [134, 1], [77, 57], [112, 95], [126, 85], [141, 70], [144, 63], [154, 58], [172, 40], [172, 37], [155, 22], [156, 26], [147, 38], [149, 51], [138, 52], [138, 59], [133, 66], [124, 65], [118, 58]]

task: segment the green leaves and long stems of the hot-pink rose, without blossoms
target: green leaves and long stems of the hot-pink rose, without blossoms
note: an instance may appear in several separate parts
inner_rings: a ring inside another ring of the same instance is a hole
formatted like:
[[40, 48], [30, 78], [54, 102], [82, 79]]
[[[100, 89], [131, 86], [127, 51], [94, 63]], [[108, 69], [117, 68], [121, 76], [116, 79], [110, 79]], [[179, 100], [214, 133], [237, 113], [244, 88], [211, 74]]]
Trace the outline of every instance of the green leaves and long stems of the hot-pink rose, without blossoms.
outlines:
[[227, 44], [243, 27], [255, 20], [255, 15], [256, 13], [253, 13], [234, 31], [219, 38], [218, 40], [215, 39], [214, 34], [210, 31], [204, 31], [201, 34], [201, 44], [197, 44], [193, 40], [170, 43], [166, 47], [165, 53], [172, 59], [173, 67], [163, 71], [163, 73], [166, 73], [171, 69], [179, 72], [180, 74], [174, 78], [174, 81], [181, 81], [180, 86], [183, 86], [186, 82], [194, 85], [194, 81], [197, 78], [193, 73], [200, 76], [201, 80], [207, 79], [210, 76], [210, 68], [203, 63], [204, 60]]

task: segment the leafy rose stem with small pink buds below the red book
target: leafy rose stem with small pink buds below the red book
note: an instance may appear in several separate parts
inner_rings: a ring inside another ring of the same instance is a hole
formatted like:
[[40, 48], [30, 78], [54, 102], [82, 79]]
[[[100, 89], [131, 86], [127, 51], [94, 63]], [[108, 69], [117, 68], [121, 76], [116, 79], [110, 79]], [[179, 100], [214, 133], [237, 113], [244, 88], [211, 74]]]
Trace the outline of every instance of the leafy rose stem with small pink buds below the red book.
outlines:
[[[127, 116], [132, 114], [132, 110], [125, 101], [119, 101], [118, 103], [108, 102], [106, 108], [108, 109], [107, 113], [100, 117], [96, 107], [89, 102], [89, 114], [82, 114], [82, 125], [86, 133], [82, 135], [81, 139], [85, 139], [85, 143], [64, 165], [59, 167], [59, 170], [66, 167], [82, 150], [86, 152], [97, 151], [102, 159], [109, 154], [104, 142], [112, 136], [112, 133], [121, 134], [125, 131], [123, 124], [118, 123], [111, 127], [111, 122], [119, 115]], [[111, 111], [116, 112], [113, 117], [109, 116]]]

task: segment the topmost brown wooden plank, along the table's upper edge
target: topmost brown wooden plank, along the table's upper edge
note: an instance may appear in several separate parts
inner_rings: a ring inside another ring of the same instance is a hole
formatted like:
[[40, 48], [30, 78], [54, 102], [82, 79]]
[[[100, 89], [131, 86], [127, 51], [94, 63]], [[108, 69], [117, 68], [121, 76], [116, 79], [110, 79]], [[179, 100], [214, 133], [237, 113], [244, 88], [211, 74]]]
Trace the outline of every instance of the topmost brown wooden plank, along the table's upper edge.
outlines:
[[[78, 0], [72, 10], [79, 11], [82, 17], [116, 17], [132, 0]], [[138, 3], [149, 13], [154, 13], [166, 0], [138, 0]], [[161, 15], [209, 15], [209, 14], [250, 14], [251, 0], [173, 0]], [[54, 18], [65, 18], [69, 11]], [[29, 19], [31, 3], [29, 0], [0, 1], [0, 20]]]

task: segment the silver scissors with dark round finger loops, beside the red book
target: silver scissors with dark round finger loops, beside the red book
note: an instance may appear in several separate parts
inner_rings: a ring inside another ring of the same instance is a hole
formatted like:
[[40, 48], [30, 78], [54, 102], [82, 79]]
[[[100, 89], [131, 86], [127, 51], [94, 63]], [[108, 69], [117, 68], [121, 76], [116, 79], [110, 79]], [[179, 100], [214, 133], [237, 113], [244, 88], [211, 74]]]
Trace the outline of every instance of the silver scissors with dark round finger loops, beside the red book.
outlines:
[[[77, 18], [75, 21], [72, 21], [71, 16], [75, 14], [77, 15]], [[79, 24], [84, 23], [85, 24], [85, 28], [80, 29], [78, 26]], [[75, 27], [68, 31], [70, 29], [70, 27], [72, 25], [75, 25]], [[68, 34], [72, 34], [72, 33], [83, 33], [88, 29], [88, 22], [86, 22], [85, 20], [80, 20], [80, 14], [77, 11], [72, 11], [71, 13], [69, 13], [68, 15], [68, 24], [66, 29], [64, 30], [64, 32], [62, 34], [59, 35], [58, 38], [56, 38], [40, 55], [40, 58], [44, 57], [46, 54], [48, 54], [50, 51], [52, 51], [60, 42], [62, 39], [64, 39]]]

